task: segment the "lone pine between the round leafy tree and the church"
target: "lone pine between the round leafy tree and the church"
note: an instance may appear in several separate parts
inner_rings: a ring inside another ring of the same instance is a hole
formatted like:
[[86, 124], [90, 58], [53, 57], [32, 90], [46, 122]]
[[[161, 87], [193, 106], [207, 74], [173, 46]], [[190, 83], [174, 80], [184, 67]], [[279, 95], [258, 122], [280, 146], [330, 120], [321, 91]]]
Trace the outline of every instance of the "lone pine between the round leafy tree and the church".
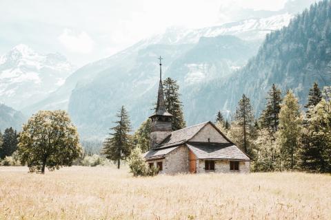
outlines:
[[132, 150], [132, 136], [131, 123], [128, 112], [121, 107], [121, 110], [117, 113], [118, 120], [114, 122], [117, 124], [112, 127], [112, 133], [110, 137], [103, 143], [102, 154], [106, 155], [107, 159], [117, 162], [117, 168], [121, 166], [121, 159], [126, 159]]

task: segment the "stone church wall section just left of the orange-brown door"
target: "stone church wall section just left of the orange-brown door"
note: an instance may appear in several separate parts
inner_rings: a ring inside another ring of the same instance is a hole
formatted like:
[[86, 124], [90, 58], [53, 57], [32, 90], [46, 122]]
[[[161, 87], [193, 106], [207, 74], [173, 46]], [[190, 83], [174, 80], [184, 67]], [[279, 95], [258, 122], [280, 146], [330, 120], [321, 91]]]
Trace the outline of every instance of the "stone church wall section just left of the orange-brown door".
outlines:
[[189, 172], [189, 155], [187, 146], [179, 146], [174, 151], [165, 155], [163, 166], [164, 173], [188, 173]]

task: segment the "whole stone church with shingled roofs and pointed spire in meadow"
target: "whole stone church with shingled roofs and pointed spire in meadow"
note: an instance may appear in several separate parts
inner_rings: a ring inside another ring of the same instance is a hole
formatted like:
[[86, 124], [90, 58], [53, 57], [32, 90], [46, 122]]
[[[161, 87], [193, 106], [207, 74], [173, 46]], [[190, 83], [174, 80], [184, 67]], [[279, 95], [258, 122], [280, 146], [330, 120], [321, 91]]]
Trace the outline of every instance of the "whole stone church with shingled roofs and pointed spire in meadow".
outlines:
[[[161, 61], [161, 58], [160, 58]], [[165, 109], [161, 80], [157, 108], [150, 133], [150, 151], [144, 158], [159, 173], [249, 173], [250, 157], [245, 155], [212, 122], [172, 131], [172, 115]]]

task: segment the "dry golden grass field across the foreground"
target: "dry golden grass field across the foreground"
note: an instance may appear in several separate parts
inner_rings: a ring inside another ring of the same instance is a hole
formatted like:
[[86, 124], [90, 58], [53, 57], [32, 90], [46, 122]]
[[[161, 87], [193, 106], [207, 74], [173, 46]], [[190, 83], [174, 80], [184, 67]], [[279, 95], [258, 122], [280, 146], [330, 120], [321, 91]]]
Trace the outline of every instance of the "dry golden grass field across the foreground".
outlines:
[[331, 219], [331, 175], [0, 167], [0, 219]]

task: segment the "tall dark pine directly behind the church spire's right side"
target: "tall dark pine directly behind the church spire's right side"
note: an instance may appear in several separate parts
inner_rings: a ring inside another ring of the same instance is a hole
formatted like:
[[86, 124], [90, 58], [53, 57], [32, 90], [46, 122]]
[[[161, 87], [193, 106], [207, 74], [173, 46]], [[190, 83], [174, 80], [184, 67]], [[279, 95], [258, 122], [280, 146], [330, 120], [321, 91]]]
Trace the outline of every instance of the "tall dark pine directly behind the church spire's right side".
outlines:
[[165, 109], [173, 115], [172, 131], [183, 129], [186, 126], [183, 115], [183, 104], [179, 100], [179, 85], [176, 80], [166, 78], [163, 80], [163, 91], [165, 96]]

